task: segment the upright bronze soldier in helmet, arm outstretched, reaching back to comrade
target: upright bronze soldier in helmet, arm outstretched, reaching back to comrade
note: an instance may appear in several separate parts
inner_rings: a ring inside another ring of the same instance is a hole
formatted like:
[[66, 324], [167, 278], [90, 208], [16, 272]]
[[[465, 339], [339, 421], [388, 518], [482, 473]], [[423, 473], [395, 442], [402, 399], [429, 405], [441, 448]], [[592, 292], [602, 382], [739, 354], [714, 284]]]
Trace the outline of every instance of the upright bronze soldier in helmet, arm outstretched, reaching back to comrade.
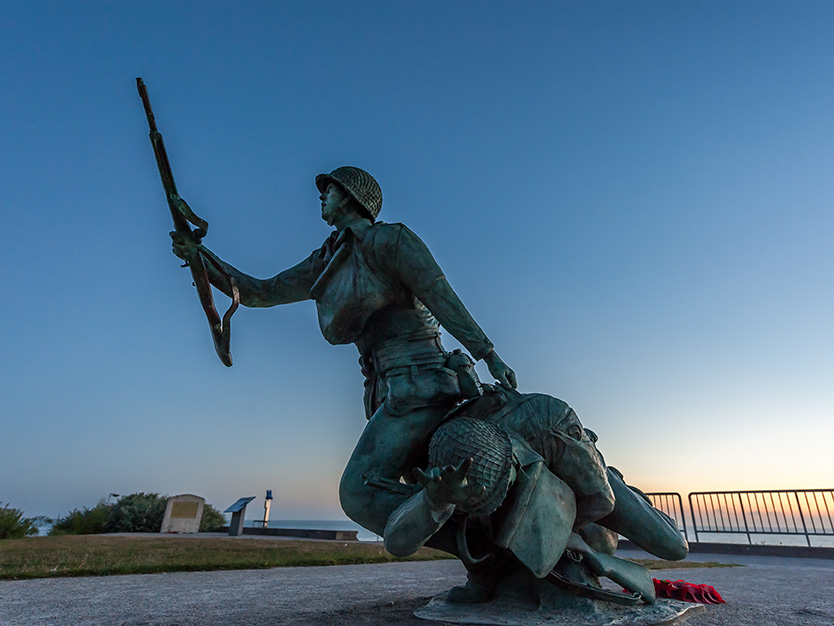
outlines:
[[[446, 352], [439, 325], [452, 334], [506, 388], [516, 377], [452, 290], [426, 245], [403, 224], [377, 221], [379, 184], [358, 167], [316, 177], [321, 217], [335, 230], [301, 263], [265, 280], [220, 260], [182, 232], [171, 233], [174, 253], [202, 254], [212, 285], [240, 303], [268, 307], [312, 299], [319, 326], [334, 345], [359, 349], [369, 422], [342, 476], [345, 513], [382, 535], [391, 513], [410, 495], [401, 477], [426, 458], [432, 433], [467, 390], [471, 361]], [[190, 212], [180, 198], [183, 213]], [[401, 486], [401, 487], [398, 487]], [[455, 552], [443, 533], [433, 545]]]

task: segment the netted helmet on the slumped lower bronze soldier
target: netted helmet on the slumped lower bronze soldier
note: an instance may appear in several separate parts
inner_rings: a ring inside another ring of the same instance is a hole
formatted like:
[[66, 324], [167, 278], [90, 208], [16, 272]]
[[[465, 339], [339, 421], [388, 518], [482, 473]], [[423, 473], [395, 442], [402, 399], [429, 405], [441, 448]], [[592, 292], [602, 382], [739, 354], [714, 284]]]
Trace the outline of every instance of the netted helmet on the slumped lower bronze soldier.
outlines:
[[501, 506], [510, 488], [513, 448], [509, 435], [471, 417], [458, 417], [438, 428], [429, 444], [429, 465], [457, 467], [467, 458], [472, 459], [466, 480], [473, 495], [455, 505], [463, 513], [489, 515]]

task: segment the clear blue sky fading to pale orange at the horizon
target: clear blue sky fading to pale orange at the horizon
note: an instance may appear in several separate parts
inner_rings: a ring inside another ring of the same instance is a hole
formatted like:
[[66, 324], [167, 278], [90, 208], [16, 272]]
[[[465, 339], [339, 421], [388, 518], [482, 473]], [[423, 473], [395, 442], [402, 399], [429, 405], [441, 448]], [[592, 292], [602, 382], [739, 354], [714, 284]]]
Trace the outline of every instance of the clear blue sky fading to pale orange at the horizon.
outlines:
[[5, 3], [0, 500], [341, 515], [358, 355], [307, 302], [240, 310], [220, 364], [137, 76], [242, 270], [318, 247], [313, 179], [358, 165], [634, 484], [830, 487], [832, 26], [763, 0]]

